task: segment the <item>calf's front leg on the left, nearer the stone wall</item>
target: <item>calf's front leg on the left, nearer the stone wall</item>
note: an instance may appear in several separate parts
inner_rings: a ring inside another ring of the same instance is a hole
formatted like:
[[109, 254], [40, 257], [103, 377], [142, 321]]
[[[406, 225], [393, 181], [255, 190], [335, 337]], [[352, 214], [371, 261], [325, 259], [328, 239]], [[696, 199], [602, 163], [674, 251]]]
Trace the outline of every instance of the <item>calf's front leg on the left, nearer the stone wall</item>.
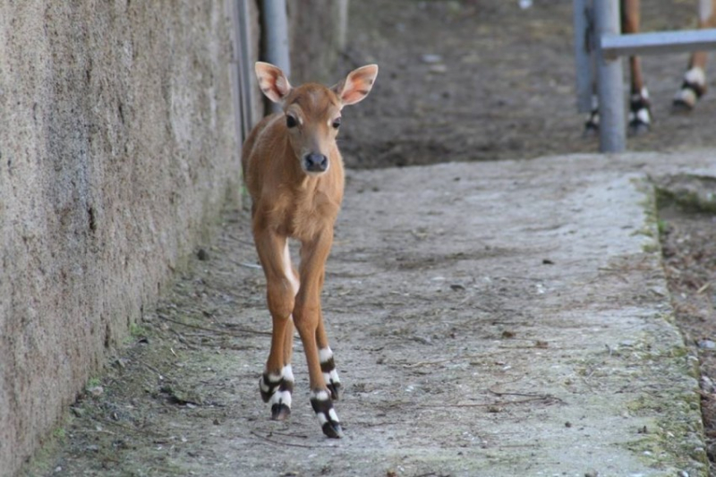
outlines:
[[288, 258], [286, 237], [257, 227], [254, 242], [266, 275], [268, 311], [273, 319], [271, 351], [259, 380], [259, 388], [263, 401], [271, 404], [271, 418], [282, 421], [291, 414], [291, 393], [294, 390], [291, 369], [294, 325], [291, 313], [294, 311], [297, 281]]

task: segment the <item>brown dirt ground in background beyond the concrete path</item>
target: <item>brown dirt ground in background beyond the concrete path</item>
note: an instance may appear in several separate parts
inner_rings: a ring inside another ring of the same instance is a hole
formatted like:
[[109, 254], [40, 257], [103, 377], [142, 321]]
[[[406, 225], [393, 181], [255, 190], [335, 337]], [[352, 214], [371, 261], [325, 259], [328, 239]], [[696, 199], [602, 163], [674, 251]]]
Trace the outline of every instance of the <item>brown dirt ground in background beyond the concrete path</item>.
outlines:
[[[650, 2], [644, 30], [693, 28], [695, 5]], [[380, 72], [371, 101], [344, 115], [349, 166], [597, 150], [596, 138], [583, 137], [585, 116], [576, 113], [571, 2], [535, 0], [522, 10], [517, 0], [362, 0], [352, 8], [344, 69], [375, 62]], [[716, 146], [713, 95], [691, 115], [671, 113], [686, 60], [643, 59], [653, 132], [630, 138], [628, 149]]]

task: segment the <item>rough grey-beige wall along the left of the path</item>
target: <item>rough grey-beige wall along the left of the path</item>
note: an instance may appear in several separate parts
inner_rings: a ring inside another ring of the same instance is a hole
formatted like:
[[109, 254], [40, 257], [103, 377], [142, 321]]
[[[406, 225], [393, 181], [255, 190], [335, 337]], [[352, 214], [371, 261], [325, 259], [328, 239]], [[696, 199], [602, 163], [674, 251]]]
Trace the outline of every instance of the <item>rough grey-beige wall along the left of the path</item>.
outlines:
[[0, 475], [240, 179], [227, 5], [0, 2]]

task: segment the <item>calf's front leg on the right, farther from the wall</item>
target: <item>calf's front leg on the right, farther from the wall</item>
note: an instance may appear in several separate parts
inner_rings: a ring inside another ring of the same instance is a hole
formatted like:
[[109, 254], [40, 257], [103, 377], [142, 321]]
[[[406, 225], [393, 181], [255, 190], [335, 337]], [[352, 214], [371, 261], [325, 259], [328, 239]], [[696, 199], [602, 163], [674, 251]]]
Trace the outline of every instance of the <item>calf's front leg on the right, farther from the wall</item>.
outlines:
[[[306, 353], [311, 384], [311, 407], [319, 419], [323, 433], [329, 438], [340, 438], [343, 437], [343, 430], [341, 430], [337, 413], [333, 409], [331, 400], [333, 393], [326, 385], [326, 379], [321, 370], [318, 339], [320, 335], [321, 345], [325, 346], [322, 349], [330, 350], [320, 310], [320, 292], [323, 288], [326, 260], [331, 243], [333, 243], [333, 231], [327, 228], [311, 242], [302, 244], [301, 266], [299, 267], [301, 288], [296, 295], [294, 323]], [[332, 362], [332, 354], [330, 358]]]

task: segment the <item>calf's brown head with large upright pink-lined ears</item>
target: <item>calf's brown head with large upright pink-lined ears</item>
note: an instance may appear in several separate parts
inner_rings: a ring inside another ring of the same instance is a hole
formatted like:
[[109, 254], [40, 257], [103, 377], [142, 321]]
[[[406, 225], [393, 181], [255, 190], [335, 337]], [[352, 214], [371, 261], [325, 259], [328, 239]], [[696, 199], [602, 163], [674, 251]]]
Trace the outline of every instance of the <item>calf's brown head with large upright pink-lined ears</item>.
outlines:
[[331, 88], [317, 83], [292, 88], [277, 66], [258, 62], [255, 68], [261, 91], [283, 106], [288, 141], [303, 171], [308, 175], [328, 171], [330, 161], [335, 160], [330, 152], [341, 125], [341, 110], [368, 96], [378, 65], [362, 66]]

